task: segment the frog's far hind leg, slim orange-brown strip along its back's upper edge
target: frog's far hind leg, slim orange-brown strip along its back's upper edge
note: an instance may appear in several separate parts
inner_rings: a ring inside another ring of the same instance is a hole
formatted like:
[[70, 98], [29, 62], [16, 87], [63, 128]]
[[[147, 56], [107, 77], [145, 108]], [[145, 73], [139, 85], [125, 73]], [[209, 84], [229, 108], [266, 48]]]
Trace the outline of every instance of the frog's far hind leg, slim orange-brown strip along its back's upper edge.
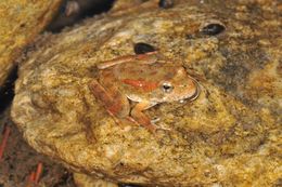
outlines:
[[139, 64], [153, 64], [157, 61], [156, 52], [150, 52], [138, 55], [127, 55], [117, 57], [111, 61], [106, 61], [97, 65], [98, 69], [106, 69], [108, 67], [123, 64], [123, 63], [139, 63]]

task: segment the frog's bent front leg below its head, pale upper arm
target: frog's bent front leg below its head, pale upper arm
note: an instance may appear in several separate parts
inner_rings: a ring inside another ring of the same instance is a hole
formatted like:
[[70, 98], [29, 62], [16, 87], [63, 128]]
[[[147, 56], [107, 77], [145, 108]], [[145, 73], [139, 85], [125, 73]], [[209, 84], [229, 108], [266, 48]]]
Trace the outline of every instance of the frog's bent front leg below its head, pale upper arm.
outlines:
[[144, 128], [146, 128], [149, 131], [151, 131], [152, 133], [155, 133], [155, 131], [157, 129], [159, 129], [158, 126], [156, 126], [155, 124], [153, 124], [151, 122], [151, 119], [143, 113], [143, 110], [150, 108], [154, 106], [154, 104], [151, 104], [149, 102], [141, 102], [138, 103], [134, 108], [131, 110], [131, 117], [133, 120], [136, 120], [139, 124], [143, 125]]

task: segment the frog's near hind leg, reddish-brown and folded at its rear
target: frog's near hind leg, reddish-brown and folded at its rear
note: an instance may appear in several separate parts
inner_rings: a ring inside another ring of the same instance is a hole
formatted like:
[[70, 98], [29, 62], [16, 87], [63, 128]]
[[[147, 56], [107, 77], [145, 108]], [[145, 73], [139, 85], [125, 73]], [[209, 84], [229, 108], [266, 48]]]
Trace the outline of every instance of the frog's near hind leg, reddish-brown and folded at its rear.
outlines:
[[121, 95], [117, 89], [112, 88], [106, 90], [97, 80], [93, 80], [89, 84], [89, 88], [95, 98], [103, 103], [107, 112], [114, 117], [118, 123], [120, 122], [116, 118], [126, 118], [129, 116], [129, 101], [126, 96]]

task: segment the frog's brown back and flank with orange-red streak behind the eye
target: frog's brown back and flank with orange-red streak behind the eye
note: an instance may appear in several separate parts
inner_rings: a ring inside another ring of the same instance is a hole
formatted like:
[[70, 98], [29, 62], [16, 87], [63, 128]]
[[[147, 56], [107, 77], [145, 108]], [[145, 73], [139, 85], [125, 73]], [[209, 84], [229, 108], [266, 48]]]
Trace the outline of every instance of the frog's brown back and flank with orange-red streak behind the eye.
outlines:
[[138, 102], [155, 96], [159, 83], [172, 79], [176, 69], [172, 64], [124, 63], [101, 70], [100, 83], [107, 89], [118, 89]]

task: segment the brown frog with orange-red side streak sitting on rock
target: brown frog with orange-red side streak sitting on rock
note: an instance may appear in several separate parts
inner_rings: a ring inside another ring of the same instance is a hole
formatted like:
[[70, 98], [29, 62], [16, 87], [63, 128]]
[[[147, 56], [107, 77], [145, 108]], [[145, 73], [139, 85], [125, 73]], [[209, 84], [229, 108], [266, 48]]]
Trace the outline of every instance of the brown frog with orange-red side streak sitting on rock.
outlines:
[[97, 68], [98, 78], [89, 83], [94, 97], [118, 123], [126, 119], [152, 133], [164, 128], [154, 124], [144, 110], [162, 103], [194, 101], [200, 95], [198, 82], [185, 68], [158, 52], [116, 57]]

